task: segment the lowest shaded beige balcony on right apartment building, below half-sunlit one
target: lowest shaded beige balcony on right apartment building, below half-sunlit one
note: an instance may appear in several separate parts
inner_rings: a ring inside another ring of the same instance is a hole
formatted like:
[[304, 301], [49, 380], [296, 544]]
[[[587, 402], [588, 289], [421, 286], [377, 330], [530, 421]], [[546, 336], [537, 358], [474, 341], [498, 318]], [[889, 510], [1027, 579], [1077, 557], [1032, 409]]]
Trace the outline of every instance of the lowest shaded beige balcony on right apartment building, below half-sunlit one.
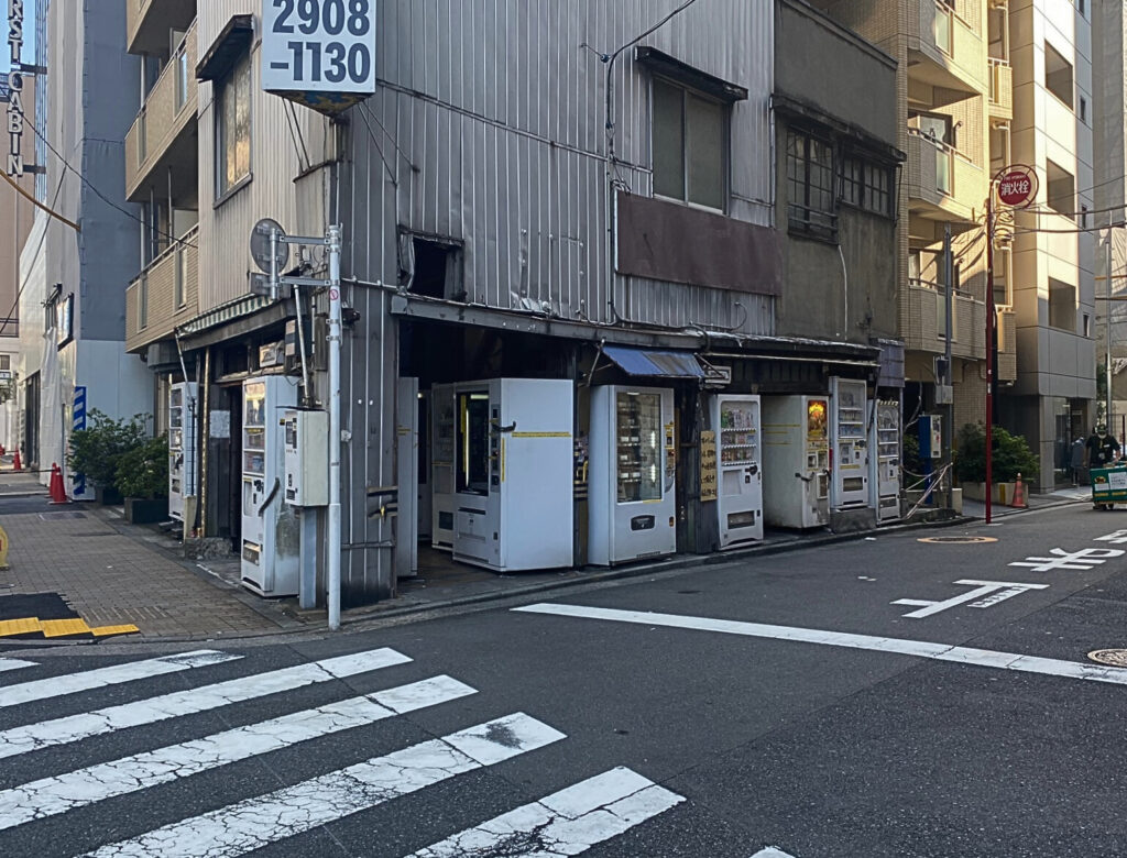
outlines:
[[[947, 292], [941, 284], [908, 279], [904, 346], [908, 351], [943, 354]], [[986, 357], [986, 305], [960, 289], [951, 306], [951, 355], [969, 360]]]

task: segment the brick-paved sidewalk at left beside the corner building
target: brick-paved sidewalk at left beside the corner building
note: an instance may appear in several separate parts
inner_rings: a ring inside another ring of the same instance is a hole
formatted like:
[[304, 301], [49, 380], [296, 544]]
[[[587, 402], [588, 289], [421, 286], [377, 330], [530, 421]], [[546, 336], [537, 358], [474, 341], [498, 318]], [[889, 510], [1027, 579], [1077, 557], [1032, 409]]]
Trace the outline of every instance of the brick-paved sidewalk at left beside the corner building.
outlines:
[[[293, 625], [278, 605], [256, 605], [258, 597], [194, 569], [113, 508], [50, 506], [33, 476], [0, 473], [0, 497], [21, 490], [29, 494], [12, 513], [0, 506], [10, 543], [0, 598], [57, 592], [91, 626], [136, 625], [133, 640], [266, 634]], [[38, 498], [42, 511], [28, 511]]]

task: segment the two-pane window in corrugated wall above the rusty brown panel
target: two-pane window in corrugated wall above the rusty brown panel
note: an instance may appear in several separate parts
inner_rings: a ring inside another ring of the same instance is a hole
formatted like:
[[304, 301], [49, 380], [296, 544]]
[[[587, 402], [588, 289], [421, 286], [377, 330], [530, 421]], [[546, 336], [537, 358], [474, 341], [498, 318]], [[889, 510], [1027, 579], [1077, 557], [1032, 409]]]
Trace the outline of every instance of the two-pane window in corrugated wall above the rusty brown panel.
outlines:
[[727, 111], [719, 101], [654, 79], [654, 193], [722, 211]]

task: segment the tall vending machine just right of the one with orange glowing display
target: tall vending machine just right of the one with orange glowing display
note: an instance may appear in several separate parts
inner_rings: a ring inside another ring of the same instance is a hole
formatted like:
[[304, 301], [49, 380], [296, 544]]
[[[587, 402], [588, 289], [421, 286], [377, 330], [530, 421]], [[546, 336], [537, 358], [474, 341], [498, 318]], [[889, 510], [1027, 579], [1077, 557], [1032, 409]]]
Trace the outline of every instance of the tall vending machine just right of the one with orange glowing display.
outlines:
[[869, 497], [869, 409], [864, 382], [852, 378], [829, 379], [829, 436], [833, 456], [829, 462], [829, 508], [868, 507]]

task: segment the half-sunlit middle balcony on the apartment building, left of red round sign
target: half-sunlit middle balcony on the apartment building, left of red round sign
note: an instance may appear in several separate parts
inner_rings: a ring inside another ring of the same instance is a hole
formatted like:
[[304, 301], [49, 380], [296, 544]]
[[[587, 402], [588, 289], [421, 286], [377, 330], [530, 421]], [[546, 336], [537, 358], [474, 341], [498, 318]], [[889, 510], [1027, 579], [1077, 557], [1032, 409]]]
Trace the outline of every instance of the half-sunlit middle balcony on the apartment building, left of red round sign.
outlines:
[[905, 184], [908, 209], [934, 221], [974, 223], [986, 199], [983, 169], [957, 149], [916, 128], [908, 128]]

